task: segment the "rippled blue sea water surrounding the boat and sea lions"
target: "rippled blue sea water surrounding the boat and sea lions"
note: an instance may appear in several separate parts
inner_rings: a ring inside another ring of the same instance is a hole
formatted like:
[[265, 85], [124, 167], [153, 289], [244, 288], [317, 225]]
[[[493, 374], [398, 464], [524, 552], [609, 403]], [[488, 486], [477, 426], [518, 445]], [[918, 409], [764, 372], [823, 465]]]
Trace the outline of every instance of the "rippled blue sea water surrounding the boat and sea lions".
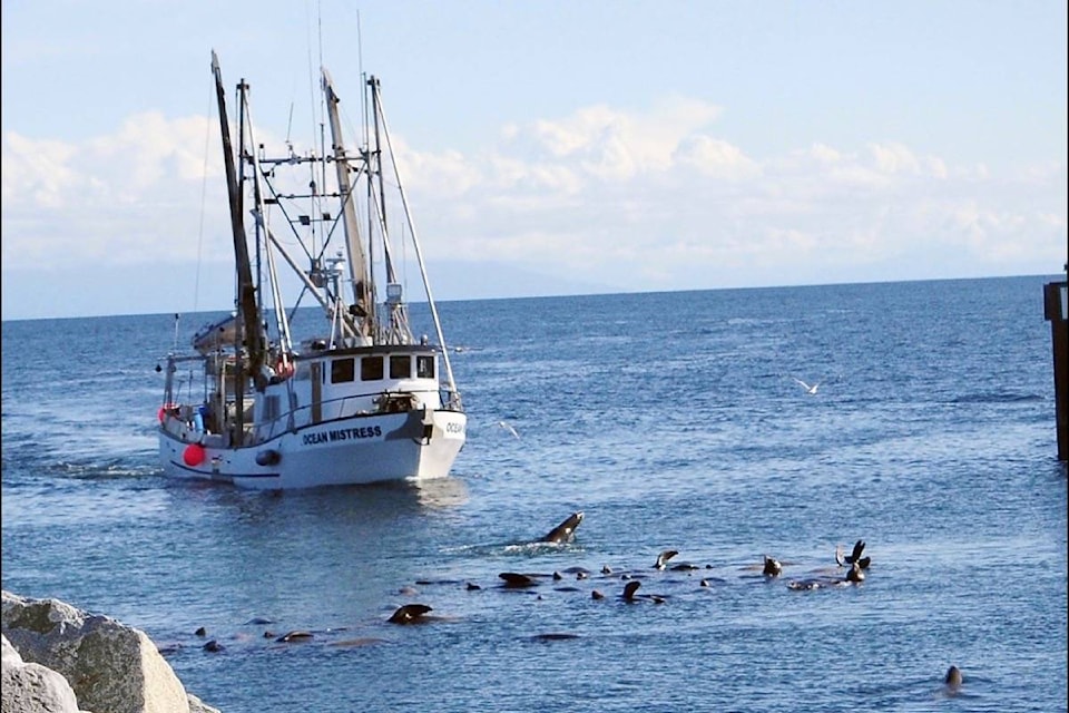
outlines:
[[[226, 712], [1066, 711], [1050, 280], [447, 302], [454, 477], [283, 495], [160, 475], [171, 315], [4, 322], [3, 588], [146, 631]], [[863, 584], [787, 587], [856, 539]]]

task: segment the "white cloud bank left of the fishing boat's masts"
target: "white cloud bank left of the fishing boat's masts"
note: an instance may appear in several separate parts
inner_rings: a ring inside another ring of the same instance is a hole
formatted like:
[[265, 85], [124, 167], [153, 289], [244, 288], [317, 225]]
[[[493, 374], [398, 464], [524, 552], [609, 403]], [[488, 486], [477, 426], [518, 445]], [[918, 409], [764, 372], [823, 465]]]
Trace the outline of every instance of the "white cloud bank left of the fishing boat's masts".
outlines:
[[217, 231], [228, 225], [225, 205], [200, 202], [205, 169], [216, 188], [220, 177], [217, 157], [205, 166], [207, 127], [146, 114], [77, 145], [8, 133], [4, 267], [195, 258], [202, 207]]

